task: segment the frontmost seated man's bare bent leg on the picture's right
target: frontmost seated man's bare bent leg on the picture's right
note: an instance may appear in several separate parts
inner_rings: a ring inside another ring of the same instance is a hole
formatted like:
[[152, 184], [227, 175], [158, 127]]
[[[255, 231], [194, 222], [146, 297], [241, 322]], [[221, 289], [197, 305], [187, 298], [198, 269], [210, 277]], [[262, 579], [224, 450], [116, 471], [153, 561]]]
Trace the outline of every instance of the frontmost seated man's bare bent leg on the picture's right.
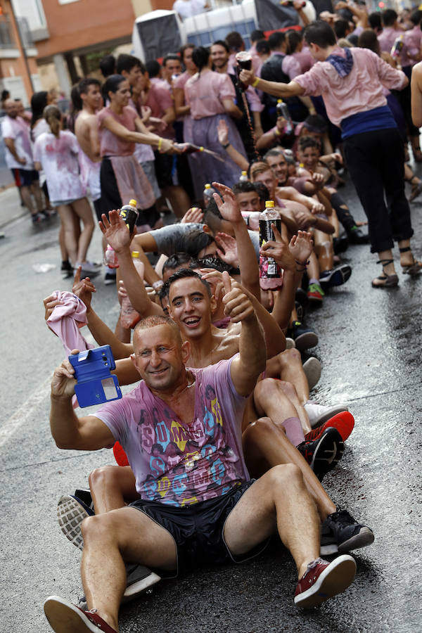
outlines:
[[319, 558], [319, 518], [298, 466], [274, 466], [246, 490], [224, 525], [231, 554], [241, 556], [277, 528], [298, 568], [298, 577]]

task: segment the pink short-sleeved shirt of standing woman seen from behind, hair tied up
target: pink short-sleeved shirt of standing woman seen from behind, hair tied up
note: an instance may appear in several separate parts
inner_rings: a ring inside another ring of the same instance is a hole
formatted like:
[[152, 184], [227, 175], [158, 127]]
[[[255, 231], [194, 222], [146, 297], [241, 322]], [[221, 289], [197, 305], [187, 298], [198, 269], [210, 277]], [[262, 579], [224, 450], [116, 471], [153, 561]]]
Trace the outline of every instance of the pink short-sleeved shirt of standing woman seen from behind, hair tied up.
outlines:
[[195, 120], [224, 114], [223, 99], [234, 100], [236, 92], [229, 75], [213, 70], [198, 72], [185, 85], [185, 100]]

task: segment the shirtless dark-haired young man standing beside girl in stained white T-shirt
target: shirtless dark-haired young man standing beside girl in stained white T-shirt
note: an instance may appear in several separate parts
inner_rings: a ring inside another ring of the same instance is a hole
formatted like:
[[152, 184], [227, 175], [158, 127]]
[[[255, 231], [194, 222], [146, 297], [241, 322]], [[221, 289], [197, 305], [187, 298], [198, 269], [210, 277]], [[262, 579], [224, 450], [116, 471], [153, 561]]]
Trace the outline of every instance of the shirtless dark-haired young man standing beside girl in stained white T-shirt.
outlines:
[[[79, 96], [82, 100], [82, 110], [75, 121], [75, 135], [81, 148], [81, 180], [84, 186], [89, 188], [96, 217], [101, 220], [101, 156], [96, 119], [96, 113], [103, 107], [101, 83], [94, 77], [82, 79], [79, 82]], [[105, 248], [106, 245], [103, 244], [103, 250]]]

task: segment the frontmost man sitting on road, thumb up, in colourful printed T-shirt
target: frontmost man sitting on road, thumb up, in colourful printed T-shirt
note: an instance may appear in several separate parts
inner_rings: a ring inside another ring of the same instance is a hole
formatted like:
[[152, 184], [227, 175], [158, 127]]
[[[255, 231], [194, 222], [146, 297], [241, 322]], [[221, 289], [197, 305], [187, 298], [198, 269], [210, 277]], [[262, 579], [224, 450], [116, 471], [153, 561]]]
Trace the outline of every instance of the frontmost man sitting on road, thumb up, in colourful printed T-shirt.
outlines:
[[[56, 596], [47, 599], [44, 610], [56, 633], [70, 627], [75, 633], [94, 627], [117, 632], [124, 562], [173, 575], [210, 561], [241, 562], [261, 551], [276, 529], [298, 568], [298, 606], [316, 606], [354, 579], [351, 556], [332, 563], [319, 558], [319, 518], [299, 468], [277, 466], [260, 480], [249, 480], [241, 418], [245, 397], [265, 367], [264, 336], [250, 299], [240, 288], [231, 288], [226, 273], [224, 285], [226, 315], [241, 323], [235, 357], [205, 369], [186, 369], [189, 343], [182, 343], [171, 319], [154, 316], [141, 321], [134, 333], [132, 360], [142, 381], [120, 401], [77, 418], [70, 362], [53, 374], [51, 432], [58, 447], [96, 450], [119, 440], [141, 497], [84, 520], [82, 582], [90, 610]], [[215, 397], [219, 407], [211, 406]], [[170, 442], [172, 426], [183, 431], [186, 443], [181, 442], [179, 459], [153, 470], [153, 446]]]

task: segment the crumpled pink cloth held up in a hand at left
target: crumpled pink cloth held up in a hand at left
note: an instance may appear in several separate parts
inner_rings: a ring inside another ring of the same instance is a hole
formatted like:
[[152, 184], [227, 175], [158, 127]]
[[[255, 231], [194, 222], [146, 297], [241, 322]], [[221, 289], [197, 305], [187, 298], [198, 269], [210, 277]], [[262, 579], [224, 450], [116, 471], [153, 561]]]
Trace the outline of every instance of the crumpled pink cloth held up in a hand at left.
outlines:
[[62, 293], [60, 290], [53, 292], [53, 298], [62, 301], [63, 305], [56, 305], [47, 319], [47, 325], [60, 338], [66, 354], [72, 350], [92, 350], [95, 346], [87, 343], [79, 332], [79, 328], [88, 323], [84, 302], [73, 293]]

